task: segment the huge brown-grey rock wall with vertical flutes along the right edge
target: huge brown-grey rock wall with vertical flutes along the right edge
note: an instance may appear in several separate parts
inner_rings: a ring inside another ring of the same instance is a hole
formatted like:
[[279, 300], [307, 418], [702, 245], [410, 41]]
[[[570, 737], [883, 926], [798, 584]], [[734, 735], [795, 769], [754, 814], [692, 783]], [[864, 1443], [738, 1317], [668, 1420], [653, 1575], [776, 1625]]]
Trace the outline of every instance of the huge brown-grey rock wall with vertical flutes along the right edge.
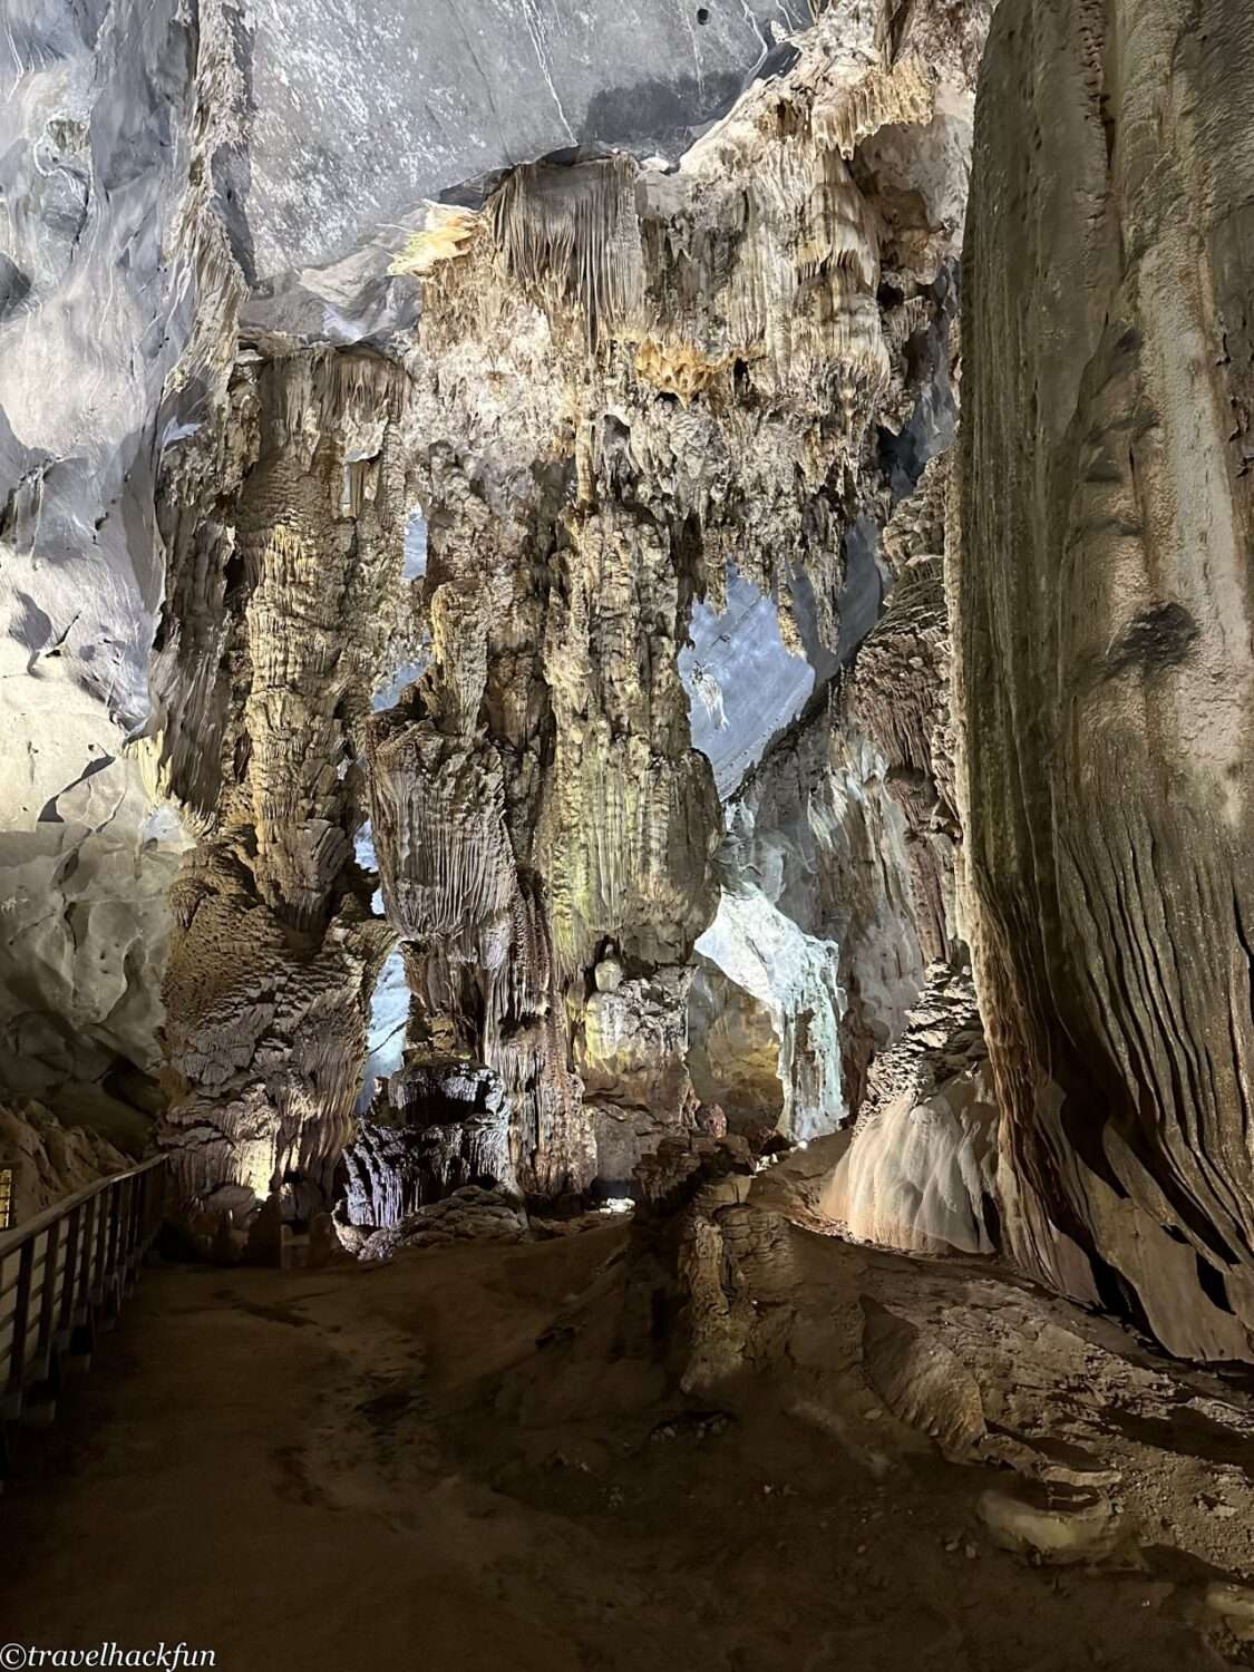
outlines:
[[965, 247], [966, 920], [1025, 1269], [1247, 1358], [1254, 18], [1003, 0]]

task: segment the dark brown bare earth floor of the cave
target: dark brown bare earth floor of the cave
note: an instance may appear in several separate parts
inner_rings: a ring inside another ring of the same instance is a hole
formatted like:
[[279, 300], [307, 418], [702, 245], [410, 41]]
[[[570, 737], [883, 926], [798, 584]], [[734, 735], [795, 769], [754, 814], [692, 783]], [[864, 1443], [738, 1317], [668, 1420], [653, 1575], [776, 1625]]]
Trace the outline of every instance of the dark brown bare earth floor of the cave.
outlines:
[[247, 1672], [1226, 1664], [1152, 1575], [991, 1548], [983, 1471], [933, 1453], [876, 1481], [777, 1408], [681, 1416], [647, 1378], [528, 1421], [495, 1373], [624, 1236], [147, 1271], [17, 1436], [0, 1635]]

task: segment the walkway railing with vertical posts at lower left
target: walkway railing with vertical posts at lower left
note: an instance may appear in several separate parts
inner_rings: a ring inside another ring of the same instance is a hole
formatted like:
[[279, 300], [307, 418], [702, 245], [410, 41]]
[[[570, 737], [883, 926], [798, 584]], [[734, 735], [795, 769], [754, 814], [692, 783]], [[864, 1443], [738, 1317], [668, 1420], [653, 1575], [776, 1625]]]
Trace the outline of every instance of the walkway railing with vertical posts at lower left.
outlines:
[[55, 1399], [65, 1359], [90, 1356], [161, 1227], [164, 1190], [157, 1155], [0, 1234], [0, 1420]]

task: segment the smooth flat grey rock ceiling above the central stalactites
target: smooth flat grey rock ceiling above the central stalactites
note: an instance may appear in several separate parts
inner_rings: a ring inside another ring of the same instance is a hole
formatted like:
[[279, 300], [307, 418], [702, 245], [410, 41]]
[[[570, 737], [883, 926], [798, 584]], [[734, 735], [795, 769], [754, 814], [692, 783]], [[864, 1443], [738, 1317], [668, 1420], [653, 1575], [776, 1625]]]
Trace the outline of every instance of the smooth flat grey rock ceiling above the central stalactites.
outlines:
[[423, 199], [552, 150], [677, 161], [772, 32], [808, 22], [804, 0], [249, 0], [249, 144], [221, 176], [241, 266], [251, 284], [324, 268]]

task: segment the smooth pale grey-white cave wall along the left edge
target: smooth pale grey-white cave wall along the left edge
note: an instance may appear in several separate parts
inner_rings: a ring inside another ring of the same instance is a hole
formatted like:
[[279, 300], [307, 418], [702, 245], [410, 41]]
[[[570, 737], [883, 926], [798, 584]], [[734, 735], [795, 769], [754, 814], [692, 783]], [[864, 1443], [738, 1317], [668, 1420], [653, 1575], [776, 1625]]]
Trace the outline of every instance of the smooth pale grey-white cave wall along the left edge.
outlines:
[[242, 284], [211, 171], [239, 115], [212, 0], [7, 15], [0, 1087], [69, 1122], [135, 1119], [161, 1070], [191, 836], [134, 741], [164, 594], [159, 460], [234, 359]]

